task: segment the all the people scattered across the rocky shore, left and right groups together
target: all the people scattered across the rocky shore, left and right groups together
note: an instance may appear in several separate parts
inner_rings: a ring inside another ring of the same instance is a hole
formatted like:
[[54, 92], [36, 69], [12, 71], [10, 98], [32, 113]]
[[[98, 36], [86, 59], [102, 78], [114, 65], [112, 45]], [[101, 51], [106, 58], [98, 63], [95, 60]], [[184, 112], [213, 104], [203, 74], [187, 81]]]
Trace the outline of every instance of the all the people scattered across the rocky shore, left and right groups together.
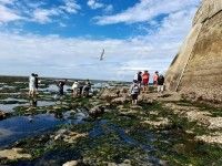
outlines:
[[[150, 73], [149, 71], [141, 72], [139, 71], [134, 77], [133, 83], [130, 87], [130, 93], [132, 96], [132, 104], [138, 103], [138, 96], [141, 91], [147, 92], [149, 90], [149, 83], [150, 83]], [[29, 77], [29, 96], [34, 97], [39, 87], [39, 80], [38, 74], [32, 73]], [[67, 80], [57, 82], [57, 85], [59, 87], [59, 95], [64, 95], [64, 85], [67, 84]], [[153, 86], [157, 87], [158, 92], [163, 93], [164, 91], [164, 76], [162, 74], [159, 74], [158, 71], [153, 74]], [[74, 96], [89, 96], [90, 90], [91, 90], [91, 83], [89, 80], [85, 82], [79, 82], [75, 81], [72, 84], [72, 95]]]

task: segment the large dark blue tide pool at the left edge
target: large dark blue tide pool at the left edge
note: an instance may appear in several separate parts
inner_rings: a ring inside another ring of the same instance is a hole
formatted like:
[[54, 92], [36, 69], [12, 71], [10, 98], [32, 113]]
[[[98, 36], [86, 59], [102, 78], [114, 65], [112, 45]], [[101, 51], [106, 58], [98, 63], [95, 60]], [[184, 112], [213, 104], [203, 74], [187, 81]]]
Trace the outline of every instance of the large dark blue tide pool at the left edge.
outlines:
[[51, 114], [36, 116], [18, 116], [0, 122], [0, 147], [27, 136], [52, 129], [56, 125], [65, 123]]

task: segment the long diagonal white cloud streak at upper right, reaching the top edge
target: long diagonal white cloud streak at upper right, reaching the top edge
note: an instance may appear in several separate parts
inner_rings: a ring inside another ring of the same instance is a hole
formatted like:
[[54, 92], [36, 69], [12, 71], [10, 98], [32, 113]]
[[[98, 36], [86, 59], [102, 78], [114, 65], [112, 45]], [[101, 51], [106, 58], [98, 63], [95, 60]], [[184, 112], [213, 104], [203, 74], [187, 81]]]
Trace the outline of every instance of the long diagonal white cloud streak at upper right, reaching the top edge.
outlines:
[[196, 7], [200, 0], [141, 0], [134, 7], [113, 15], [97, 17], [98, 24], [134, 23], [150, 21], [160, 14], [169, 14]]

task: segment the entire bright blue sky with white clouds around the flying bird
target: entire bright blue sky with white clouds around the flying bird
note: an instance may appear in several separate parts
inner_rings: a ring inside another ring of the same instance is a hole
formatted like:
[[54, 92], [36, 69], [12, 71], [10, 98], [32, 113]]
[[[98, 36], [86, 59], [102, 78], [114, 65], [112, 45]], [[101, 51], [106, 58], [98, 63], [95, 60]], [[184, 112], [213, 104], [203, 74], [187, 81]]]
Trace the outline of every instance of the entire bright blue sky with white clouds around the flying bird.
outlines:
[[199, 6], [200, 0], [0, 0], [0, 74], [130, 81], [138, 70], [164, 73]]

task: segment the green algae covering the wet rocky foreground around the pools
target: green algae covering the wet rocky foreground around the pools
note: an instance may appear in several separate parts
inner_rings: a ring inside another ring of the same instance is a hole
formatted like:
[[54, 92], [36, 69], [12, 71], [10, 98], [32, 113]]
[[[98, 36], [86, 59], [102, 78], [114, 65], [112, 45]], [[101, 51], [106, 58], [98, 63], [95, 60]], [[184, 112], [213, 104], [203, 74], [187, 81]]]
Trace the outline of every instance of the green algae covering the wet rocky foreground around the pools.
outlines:
[[[50, 95], [44, 95], [43, 93], [41, 95], [41, 100], [53, 100]], [[97, 98], [72, 98], [70, 96], [64, 96], [62, 102], [65, 104], [58, 104], [58, 107], [32, 107], [30, 112], [33, 114], [46, 113], [48, 111], [63, 113], [68, 110], [82, 106], [90, 108], [93, 106], [93, 102], [105, 104], [103, 101]], [[181, 106], [196, 106], [200, 111], [211, 112], [213, 116], [221, 115], [220, 108], [214, 108], [209, 105], [186, 101], [175, 102], [175, 104]], [[222, 164], [222, 146], [220, 144], [206, 144], [194, 139], [196, 135], [212, 133], [212, 129], [199, 125], [198, 122], [190, 122], [186, 117], [175, 114], [170, 108], [165, 108], [160, 102], [153, 102], [152, 104], [141, 102], [140, 106], [142, 108], [134, 108], [137, 112], [131, 115], [122, 115], [117, 106], [112, 105], [111, 111], [95, 118], [95, 121], [77, 125], [61, 125], [58, 126], [58, 129], [69, 128], [78, 133], [90, 133], [97, 127], [97, 123], [100, 120], [107, 120], [108, 123], [102, 126], [105, 131], [109, 131], [109, 126], [114, 124], [122, 128], [124, 134], [130, 138], [140, 143], [140, 145], [152, 145], [155, 151], [147, 152], [141, 146], [123, 142], [117, 131], [108, 132], [98, 137], [83, 137], [71, 145], [62, 141], [54, 142], [50, 138], [50, 134], [44, 134], [43, 137], [28, 138], [23, 143], [20, 142], [18, 147], [22, 147], [26, 152], [31, 153], [33, 160], [54, 151], [74, 151], [80, 152], [82, 157], [91, 165], [105, 165], [105, 163], [112, 162], [122, 163], [124, 159], [130, 159], [132, 165], [142, 165], [142, 159], [149, 155], [167, 160], [168, 165], [199, 166]], [[23, 115], [27, 113], [27, 108], [26, 106], [20, 106], [16, 108], [16, 112]], [[130, 103], [124, 103], [123, 108], [132, 110]], [[151, 114], [151, 112], [157, 114]], [[144, 121], [144, 117], [149, 121], [158, 121], [159, 117], [164, 117], [169, 120], [169, 124], [159, 127], [142, 125], [141, 122]], [[192, 134], [189, 134], [186, 131], [192, 131]], [[154, 138], [149, 138], [149, 134], [153, 135]], [[18, 162], [13, 160], [13, 164]], [[0, 164], [10, 163], [0, 162]]]

